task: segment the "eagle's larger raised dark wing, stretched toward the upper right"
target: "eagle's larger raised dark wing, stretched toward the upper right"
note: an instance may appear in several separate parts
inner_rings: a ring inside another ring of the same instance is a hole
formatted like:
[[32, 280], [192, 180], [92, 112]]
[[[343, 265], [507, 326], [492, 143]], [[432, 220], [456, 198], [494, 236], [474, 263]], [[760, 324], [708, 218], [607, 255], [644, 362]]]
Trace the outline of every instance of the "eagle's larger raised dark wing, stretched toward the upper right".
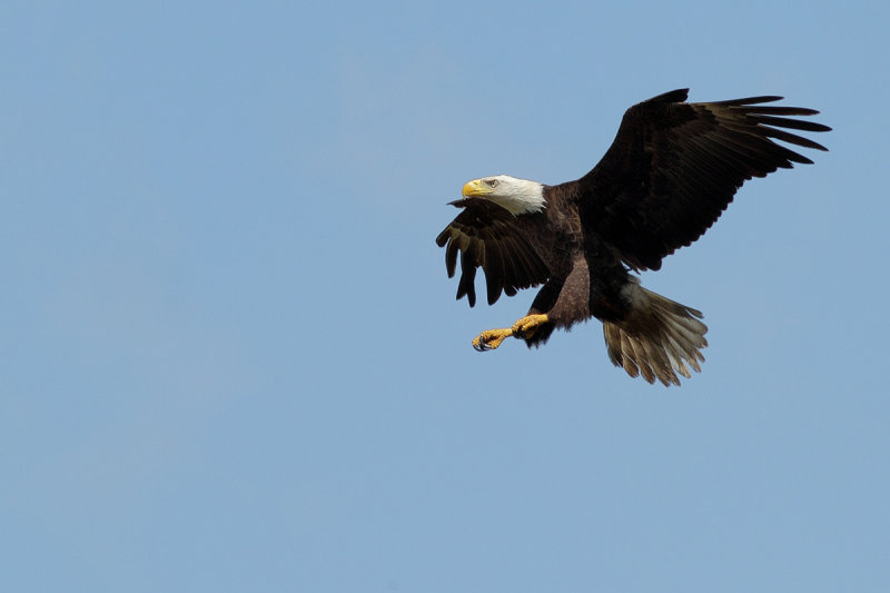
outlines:
[[580, 214], [636, 269], [690, 245], [714, 224], [745, 180], [812, 161], [773, 141], [827, 150], [781, 128], [829, 131], [783, 116], [812, 109], [764, 106], [781, 97], [685, 103], [689, 89], [631, 107], [615, 140], [578, 180]]

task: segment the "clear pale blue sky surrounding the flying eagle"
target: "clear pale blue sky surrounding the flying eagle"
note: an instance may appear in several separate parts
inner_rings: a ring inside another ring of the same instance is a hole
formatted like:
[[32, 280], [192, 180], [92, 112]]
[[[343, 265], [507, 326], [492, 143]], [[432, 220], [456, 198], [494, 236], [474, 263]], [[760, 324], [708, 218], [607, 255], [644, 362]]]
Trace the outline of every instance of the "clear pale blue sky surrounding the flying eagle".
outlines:
[[[890, 590], [887, 6], [7, 0], [2, 589]], [[679, 87], [834, 128], [643, 276], [703, 372], [474, 352], [445, 202]]]

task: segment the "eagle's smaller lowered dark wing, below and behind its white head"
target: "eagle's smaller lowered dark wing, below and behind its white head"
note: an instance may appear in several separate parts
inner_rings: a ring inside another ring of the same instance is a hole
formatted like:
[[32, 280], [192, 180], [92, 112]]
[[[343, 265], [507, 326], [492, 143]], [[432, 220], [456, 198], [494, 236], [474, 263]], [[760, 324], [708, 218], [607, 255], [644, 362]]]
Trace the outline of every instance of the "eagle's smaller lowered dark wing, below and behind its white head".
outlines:
[[474, 280], [479, 266], [485, 271], [488, 305], [501, 297], [502, 290], [513, 296], [520, 288], [547, 280], [547, 266], [534, 246], [535, 227], [542, 224], [543, 215], [514, 216], [483, 198], [451, 204], [464, 211], [439, 233], [436, 245], [445, 247], [448, 278], [454, 277], [457, 254], [461, 254], [458, 299], [466, 295], [471, 307], [476, 304]]

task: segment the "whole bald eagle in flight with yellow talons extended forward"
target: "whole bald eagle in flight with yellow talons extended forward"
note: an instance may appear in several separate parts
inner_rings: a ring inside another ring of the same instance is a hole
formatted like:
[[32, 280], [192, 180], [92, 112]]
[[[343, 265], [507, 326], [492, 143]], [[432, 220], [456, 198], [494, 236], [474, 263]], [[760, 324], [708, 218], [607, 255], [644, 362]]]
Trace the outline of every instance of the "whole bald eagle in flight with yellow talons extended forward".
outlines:
[[678, 89], [624, 113], [612, 146], [584, 177], [546, 186], [506, 175], [467, 182], [449, 202], [459, 215], [436, 237], [457, 298], [476, 303], [476, 269], [488, 304], [502, 291], [541, 285], [528, 314], [505, 329], [479, 334], [477, 350], [510, 336], [544, 344], [555, 328], [596, 317], [609, 358], [632, 377], [679, 385], [678, 373], [701, 372], [708, 327], [701, 312], [640, 286], [631, 271], [656, 270], [662, 258], [691, 245], [714, 224], [735, 191], [807, 157], [773, 140], [825, 147], [782, 128], [831, 128], [784, 116], [813, 109], [764, 105], [782, 97], [685, 102]]

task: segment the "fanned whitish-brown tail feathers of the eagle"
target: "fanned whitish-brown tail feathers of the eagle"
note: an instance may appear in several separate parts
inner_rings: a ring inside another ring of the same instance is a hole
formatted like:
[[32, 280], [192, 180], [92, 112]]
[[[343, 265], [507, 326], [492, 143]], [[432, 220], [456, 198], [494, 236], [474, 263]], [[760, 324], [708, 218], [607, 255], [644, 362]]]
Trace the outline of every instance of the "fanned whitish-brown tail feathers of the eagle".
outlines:
[[[634, 278], [635, 280], [635, 278]], [[689, 367], [701, 373], [701, 348], [708, 346], [701, 312], [646, 290], [636, 281], [625, 288], [633, 309], [621, 322], [603, 323], [609, 358], [632, 377], [680, 385]]]

